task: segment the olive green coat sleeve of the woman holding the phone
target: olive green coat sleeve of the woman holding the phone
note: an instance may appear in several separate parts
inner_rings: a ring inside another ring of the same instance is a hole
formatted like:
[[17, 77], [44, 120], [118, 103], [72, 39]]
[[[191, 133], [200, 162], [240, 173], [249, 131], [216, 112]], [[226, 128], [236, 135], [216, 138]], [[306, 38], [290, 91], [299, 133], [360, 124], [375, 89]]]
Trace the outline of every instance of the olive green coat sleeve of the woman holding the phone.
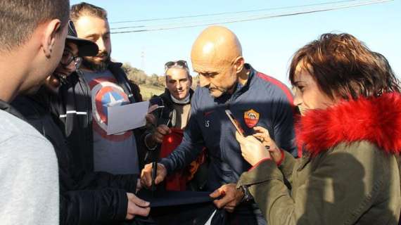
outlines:
[[248, 186], [269, 225], [355, 224], [386, 184], [383, 155], [374, 146], [355, 149], [361, 148], [358, 145], [341, 144], [317, 156], [314, 168], [304, 168], [301, 162], [297, 170], [310, 169], [310, 173], [293, 177], [295, 190], [284, 185], [284, 176], [272, 160], [243, 173], [238, 186]]

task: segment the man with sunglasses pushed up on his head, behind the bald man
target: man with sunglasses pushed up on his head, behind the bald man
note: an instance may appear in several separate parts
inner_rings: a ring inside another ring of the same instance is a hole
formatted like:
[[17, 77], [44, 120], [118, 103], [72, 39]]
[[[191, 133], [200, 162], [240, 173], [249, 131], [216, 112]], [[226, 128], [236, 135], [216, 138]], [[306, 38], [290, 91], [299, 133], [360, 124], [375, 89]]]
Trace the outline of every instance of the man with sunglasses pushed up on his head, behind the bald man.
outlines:
[[[158, 108], [152, 113], [154, 123], [148, 126], [145, 135], [145, 146], [148, 148], [145, 162], [165, 157], [181, 143], [182, 131], [191, 115], [192, 77], [185, 60], [165, 63], [165, 82], [165, 92], [150, 100], [151, 105]], [[165, 136], [171, 140], [169, 143], [163, 143]], [[202, 190], [207, 176], [204, 162], [205, 155], [201, 155], [190, 167], [170, 176], [165, 184], [167, 190]]]

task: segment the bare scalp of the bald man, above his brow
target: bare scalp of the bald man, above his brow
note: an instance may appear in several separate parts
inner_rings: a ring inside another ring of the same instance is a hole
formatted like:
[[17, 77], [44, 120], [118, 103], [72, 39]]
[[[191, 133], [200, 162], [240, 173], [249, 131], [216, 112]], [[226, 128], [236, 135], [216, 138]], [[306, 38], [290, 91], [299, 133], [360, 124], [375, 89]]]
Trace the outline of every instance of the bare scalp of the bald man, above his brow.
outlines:
[[201, 32], [193, 43], [191, 60], [198, 63], [232, 63], [242, 56], [241, 44], [226, 27], [212, 26]]

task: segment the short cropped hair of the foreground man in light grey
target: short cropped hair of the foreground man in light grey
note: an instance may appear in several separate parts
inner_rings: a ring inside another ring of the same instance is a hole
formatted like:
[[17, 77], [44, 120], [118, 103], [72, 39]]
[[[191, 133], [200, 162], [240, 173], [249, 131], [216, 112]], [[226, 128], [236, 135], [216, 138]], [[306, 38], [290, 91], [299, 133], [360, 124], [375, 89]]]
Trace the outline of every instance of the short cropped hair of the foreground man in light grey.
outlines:
[[0, 0], [0, 50], [11, 51], [25, 43], [41, 23], [68, 22], [69, 0]]

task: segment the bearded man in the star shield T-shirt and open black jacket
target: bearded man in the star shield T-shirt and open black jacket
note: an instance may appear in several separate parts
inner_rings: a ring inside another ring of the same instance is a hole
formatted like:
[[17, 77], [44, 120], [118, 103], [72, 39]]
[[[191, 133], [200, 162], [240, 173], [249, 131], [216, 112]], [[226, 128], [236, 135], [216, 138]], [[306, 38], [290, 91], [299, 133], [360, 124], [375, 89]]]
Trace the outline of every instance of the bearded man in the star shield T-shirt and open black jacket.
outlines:
[[77, 36], [98, 46], [96, 56], [83, 57], [82, 73], [72, 74], [68, 84], [60, 89], [63, 108], [58, 113], [72, 145], [72, 157], [77, 167], [87, 172], [138, 174], [138, 150], [144, 148], [137, 143], [141, 143], [143, 131], [107, 134], [108, 107], [139, 101], [139, 95], [130, 89], [122, 64], [110, 60], [107, 12], [83, 2], [71, 7], [70, 18]]

